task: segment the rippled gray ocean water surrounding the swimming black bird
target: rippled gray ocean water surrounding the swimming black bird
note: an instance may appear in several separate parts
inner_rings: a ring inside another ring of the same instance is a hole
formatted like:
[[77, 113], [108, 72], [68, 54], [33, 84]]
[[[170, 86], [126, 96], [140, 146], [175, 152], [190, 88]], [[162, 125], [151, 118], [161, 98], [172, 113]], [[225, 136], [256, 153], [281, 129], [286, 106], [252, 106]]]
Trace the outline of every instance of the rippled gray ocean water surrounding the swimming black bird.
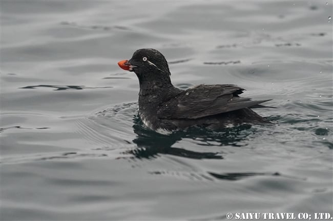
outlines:
[[[327, 4], [326, 4], [327, 2]], [[1, 1], [1, 219], [332, 211], [331, 1]], [[237, 84], [275, 122], [160, 135], [139, 48], [172, 82]]]

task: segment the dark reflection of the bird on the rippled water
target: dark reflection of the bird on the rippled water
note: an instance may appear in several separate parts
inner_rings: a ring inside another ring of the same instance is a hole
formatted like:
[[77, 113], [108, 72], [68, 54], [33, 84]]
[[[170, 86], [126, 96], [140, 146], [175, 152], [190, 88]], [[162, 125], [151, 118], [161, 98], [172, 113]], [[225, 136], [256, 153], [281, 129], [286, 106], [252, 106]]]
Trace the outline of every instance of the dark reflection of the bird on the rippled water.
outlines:
[[130, 154], [133, 154], [136, 158], [149, 159], [158, 157], [159, 154], [169, 154], [192, 159], [223, 159], [221, 153], [195, 152], [172, 147], [172, 145], [177, 141], [188, 138], [196, 140], [199, 145], [237, 146], [247, 135], [253, 133], [251, 125], [239, 125], [220, 131], [191, 128], [186, 131], [176, 131], [169, 135], [163, 135], [146, 128], [138, 116], [134, 116], [133, 121], [133, 129], [137, 134], [133, 142], [137, 144], [138, 148], [131, 150]]

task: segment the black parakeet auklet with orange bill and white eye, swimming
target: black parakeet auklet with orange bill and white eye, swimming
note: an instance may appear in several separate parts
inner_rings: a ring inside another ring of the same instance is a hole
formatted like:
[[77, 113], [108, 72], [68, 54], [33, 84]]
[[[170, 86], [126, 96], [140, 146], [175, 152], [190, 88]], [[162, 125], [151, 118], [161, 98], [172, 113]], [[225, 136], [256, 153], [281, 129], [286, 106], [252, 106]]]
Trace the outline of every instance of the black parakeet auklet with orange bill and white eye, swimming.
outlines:
[[172, 85], [168, 62], [155, 49], [134, 52], [130, 60], [118, 65], [134, 71], [139, 79], [139, 116], [150, 129], [159, 133], [189, 127], [219, 129], [241, 123], [269, 122], [250, 108], [270, 100], [252, 101], [240, 97], [243, 88], [232, 84], [200, 84], [186, 90]]

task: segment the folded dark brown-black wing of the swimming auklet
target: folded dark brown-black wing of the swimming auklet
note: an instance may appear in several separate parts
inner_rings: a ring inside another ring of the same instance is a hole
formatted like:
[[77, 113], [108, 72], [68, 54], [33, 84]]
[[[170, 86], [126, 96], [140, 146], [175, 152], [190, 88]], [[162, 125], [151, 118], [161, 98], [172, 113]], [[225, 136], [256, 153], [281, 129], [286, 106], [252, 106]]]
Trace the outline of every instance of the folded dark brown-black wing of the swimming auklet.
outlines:
[[182, 91], [161, 104], [157, 115], [164, 119], [197, 119], [200, 117], [256, 106], [270, 101], [252, 101], [240, 97], [243, 88], [236, 85], [198, 85]]

